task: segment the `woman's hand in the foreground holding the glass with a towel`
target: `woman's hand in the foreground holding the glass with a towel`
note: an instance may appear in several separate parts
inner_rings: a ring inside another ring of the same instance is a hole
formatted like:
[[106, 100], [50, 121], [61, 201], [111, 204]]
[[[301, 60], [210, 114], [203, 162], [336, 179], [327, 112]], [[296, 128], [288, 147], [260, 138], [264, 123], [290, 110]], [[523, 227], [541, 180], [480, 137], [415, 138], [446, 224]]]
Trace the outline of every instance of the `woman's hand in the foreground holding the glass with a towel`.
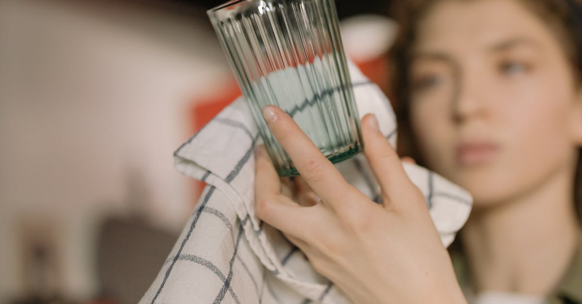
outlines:
[[362, 120], [365, 156], [383, 206], [347, 183], [281, 109], [263, 109], [271, 132], [321, 200], [301, 206], [281, 193], [264, 147], [257, 149], [255, 213], [281, 230], [315, 270], [354, 303], [466, 303], [420, 190], [378, 130]]

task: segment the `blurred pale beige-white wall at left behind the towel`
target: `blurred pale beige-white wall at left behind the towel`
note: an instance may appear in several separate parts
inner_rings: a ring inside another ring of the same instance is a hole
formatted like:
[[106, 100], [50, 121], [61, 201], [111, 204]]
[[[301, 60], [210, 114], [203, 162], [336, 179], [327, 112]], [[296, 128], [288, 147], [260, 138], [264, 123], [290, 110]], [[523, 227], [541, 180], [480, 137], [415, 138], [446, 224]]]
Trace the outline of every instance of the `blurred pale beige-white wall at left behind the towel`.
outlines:
[[65, 291], [93, 293], [95, 223], [129, 212], [132, 174], [149, 217], [181, 228], [194, 193], [172, 153], [230, 73], [205, 20], [74, 3], [0, 0], [0, 299], [22, 292], [25, 218], [59, 223]]

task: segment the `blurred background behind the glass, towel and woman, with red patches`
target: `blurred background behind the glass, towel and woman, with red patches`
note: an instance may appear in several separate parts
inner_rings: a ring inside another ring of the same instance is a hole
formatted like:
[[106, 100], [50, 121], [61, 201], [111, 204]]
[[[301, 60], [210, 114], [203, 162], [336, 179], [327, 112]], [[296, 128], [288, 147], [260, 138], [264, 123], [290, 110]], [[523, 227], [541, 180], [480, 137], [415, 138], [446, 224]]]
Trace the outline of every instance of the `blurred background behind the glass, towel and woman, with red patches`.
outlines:
[[[172, 153], [240, 91], [222, 1], [0, 0], [0, 303], [136, 303], [204, 185]], [[336, 0], [386, 87], [389, 1]]]

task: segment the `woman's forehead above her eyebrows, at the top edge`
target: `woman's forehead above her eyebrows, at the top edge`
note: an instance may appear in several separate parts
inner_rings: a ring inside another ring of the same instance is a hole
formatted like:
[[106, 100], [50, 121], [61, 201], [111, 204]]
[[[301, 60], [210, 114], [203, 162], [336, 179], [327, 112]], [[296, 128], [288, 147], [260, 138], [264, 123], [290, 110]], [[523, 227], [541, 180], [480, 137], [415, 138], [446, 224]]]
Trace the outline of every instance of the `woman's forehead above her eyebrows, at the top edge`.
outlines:
[[441, 1], [424, 17], [417, 37], [417, 51], [452, 54], [513, 37], [552, 40], [545, 24], [515, 0]]

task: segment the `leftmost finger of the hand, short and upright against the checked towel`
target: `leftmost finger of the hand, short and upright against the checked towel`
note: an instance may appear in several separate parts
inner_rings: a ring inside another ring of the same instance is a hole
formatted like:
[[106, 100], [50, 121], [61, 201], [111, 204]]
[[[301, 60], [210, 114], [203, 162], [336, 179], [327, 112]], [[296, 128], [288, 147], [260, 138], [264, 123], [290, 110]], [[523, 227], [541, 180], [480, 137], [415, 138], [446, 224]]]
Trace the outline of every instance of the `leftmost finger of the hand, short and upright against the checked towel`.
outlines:
[[255, 148], [255, 199], [279, 193], [281, 193], [279, 175], [265, 146], [258, 146]]

